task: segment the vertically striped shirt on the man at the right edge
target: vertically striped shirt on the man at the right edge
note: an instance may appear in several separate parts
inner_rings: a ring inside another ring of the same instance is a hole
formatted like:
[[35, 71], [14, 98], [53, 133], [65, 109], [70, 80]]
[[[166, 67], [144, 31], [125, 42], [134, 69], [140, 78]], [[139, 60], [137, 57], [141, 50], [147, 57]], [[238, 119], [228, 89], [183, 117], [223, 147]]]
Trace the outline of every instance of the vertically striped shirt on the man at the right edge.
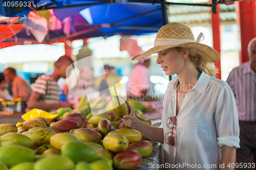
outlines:
[[251, 68], [251, 62], [233, 68], [227, 83], [237, 100], [239, 120], [256, 121], [256, 75]]

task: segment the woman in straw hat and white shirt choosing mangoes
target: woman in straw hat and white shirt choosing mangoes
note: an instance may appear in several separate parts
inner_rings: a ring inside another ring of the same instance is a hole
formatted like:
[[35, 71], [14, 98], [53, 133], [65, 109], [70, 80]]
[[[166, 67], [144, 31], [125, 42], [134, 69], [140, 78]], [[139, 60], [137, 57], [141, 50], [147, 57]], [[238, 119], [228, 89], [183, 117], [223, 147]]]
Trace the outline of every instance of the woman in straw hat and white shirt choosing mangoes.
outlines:
[[[155, 46], [134, 57], [158, 53], [169, 82], [163, 101], [162, 127], [147, 126], [134, 115], [123, 122], [145, 137], [164, 143], [166, 169], [228, 169], [234, 167], [239, 148], [238, 112], [228, 84], [214, 78], [219, 54], [199, 43], [191, 30], [180, 23], [160, 28]], [[220, 156], [222, 155], [222, 156]], [[228, 167], [229, 166], [229, 167]]]

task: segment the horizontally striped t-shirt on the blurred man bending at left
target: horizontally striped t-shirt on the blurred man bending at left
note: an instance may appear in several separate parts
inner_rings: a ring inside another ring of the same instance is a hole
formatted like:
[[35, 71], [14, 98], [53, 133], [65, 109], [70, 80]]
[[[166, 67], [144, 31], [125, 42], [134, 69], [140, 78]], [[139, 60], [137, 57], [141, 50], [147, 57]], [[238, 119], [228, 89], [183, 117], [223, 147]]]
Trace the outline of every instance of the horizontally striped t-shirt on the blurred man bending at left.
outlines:
[[34, 84], [33, 91], [42, 95], [41, 102], [58, 103], [60, 102], [60, 91], [57, 81], [50, 75], [39, 76]]

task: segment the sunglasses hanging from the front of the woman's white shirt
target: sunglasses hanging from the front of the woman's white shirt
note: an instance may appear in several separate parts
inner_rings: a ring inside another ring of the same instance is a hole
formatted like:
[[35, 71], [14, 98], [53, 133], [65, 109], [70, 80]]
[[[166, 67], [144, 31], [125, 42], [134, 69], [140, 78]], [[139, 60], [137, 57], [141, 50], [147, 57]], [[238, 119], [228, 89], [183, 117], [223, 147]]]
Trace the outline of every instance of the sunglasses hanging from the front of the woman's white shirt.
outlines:
[[164, 140], [166, 144], [174, 146], [175, 144], [175, 136], [174, 136], [174, 129], [176, 127], [176, 116], [175, 117], [169, 117], [167, 119], [167, 128], [172, 130], [172, 132], [166, 133]]

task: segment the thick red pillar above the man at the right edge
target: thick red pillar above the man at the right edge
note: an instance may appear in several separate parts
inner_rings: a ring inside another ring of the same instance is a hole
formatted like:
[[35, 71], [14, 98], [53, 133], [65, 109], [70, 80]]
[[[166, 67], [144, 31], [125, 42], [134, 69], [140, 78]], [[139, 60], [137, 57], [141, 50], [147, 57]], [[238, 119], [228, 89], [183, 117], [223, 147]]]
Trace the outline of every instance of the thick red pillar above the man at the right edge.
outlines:
[[240, 29], [241, 51], [239, 53], [240, 64], [249, 60], [247, 46], [249, 41], [256, 37], [256, 10], [255, 0], [236, 2], [237, 25]]

